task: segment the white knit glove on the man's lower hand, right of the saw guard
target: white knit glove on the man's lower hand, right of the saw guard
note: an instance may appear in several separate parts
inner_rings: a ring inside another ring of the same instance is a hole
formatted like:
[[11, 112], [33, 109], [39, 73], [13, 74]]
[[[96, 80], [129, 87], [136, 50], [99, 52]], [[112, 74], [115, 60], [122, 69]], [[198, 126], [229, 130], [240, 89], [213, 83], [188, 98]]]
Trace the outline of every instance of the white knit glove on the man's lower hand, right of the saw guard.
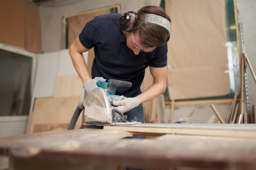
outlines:
[[112, 104], [116, 106], [119, 111], [125, 113], [137, 106], [139, 106], [139, 99], [138, 98], [125, 98], [124, 96], [120, 96], [119, 98], [115, 98], [112, 101]]

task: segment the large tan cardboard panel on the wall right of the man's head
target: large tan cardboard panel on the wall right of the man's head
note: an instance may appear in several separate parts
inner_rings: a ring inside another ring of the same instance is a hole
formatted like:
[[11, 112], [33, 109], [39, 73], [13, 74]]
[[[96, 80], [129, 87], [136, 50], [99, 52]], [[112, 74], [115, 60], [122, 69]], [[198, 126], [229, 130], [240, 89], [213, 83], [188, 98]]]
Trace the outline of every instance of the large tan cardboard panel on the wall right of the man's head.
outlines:
[[166, 0], [171, 99], [230, 93], [224, 0]]

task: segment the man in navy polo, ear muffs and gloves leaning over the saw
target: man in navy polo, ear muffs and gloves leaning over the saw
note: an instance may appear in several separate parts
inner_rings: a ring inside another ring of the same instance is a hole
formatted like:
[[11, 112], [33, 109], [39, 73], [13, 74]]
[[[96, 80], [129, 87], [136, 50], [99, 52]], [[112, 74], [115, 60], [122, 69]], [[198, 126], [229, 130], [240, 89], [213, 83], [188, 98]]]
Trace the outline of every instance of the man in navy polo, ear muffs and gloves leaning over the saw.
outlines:
[[[155, 14], [155, 15], [147, 15]], [[151, 20], [152, 19], [152, 20]], [[148, 21], [150, 20], [150, 21]], [[97, 81], [129, 81], [131, 88], [117, 88], [117, 109], [144, 123], [142, 103], [153, 100], [166, 89], [167, 45], [170, 17], [156, 6], [146, 6], [137, 13], [109, 13], [88, 22], [69, 48], [69, 53], [87, 93], [97, 88]], [[94, 47], [95, 59], [90, 77], [83, 52]], [[149, 66], [153, 84], [141, 92], [145, 69]]]

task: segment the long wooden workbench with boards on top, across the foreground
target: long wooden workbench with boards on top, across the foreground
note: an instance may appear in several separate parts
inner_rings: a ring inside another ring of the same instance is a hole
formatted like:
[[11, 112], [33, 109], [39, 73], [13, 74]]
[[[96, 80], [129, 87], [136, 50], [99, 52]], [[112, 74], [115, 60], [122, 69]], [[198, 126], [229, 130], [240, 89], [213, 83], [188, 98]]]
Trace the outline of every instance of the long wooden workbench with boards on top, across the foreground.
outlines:
[[25, 134], [0, 138], [0, 155], [10, 158], [10, 170], [80, 170], [85, 164], [105, 170], [122, 165], [255, 170], [256, 126], [135, 124]]

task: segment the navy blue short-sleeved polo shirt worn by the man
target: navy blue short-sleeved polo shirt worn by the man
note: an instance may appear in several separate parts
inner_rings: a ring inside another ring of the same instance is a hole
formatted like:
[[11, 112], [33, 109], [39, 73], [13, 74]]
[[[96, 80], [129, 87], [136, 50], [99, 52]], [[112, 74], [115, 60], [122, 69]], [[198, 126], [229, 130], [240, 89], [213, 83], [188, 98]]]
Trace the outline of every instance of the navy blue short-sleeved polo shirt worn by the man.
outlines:
[[120, 16], [118, 13], [109, 13], [94, 17], [79, 34], [79, 40], [85, 48], [94, 47], [92, 78], [129, 81], [132, 87], [119, 87], [116, 95], [135, 97], [141, 94], [145, 69], [148, 66], [161, 68], [167, 65], [167, 45], [159, 46], [153, 52], [135, 55], [126, 45], [125, 34], [118, 26]]

